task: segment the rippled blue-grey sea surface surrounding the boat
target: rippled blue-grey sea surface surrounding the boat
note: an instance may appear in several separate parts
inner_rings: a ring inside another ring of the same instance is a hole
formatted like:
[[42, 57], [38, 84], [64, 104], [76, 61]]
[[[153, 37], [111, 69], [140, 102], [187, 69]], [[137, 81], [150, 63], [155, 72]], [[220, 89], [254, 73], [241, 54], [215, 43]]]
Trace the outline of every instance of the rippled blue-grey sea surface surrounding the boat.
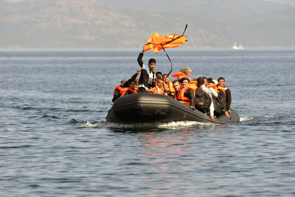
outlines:
[[240, 123], [106, 124], [139, 53], [0, 51], [1, 197], [295, 196], [294, 48], [167, 49], [172, 73], [225, 78]]

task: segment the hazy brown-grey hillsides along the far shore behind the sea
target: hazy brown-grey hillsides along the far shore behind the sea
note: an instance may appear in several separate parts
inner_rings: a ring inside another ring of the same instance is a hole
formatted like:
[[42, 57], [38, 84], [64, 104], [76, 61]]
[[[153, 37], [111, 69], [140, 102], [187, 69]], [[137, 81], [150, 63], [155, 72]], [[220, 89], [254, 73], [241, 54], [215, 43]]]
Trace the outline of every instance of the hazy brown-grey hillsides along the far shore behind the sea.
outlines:
[[[169, 3], [168, 3], [169, 2]], [[269, 1], [0, 0], [0, 48], [141, 48], [182, 34], [181, 47], [295, 47], [295, 7]]]

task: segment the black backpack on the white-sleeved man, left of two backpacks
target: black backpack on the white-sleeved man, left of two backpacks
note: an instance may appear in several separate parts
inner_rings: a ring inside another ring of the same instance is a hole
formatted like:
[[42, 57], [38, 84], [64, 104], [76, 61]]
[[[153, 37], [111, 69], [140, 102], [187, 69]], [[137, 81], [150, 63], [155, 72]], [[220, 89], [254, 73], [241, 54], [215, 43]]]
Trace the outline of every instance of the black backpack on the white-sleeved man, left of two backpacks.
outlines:
[[210, 111], [211, 97], [201, 89], [195, 90], [195, 108], [203, 113]]

